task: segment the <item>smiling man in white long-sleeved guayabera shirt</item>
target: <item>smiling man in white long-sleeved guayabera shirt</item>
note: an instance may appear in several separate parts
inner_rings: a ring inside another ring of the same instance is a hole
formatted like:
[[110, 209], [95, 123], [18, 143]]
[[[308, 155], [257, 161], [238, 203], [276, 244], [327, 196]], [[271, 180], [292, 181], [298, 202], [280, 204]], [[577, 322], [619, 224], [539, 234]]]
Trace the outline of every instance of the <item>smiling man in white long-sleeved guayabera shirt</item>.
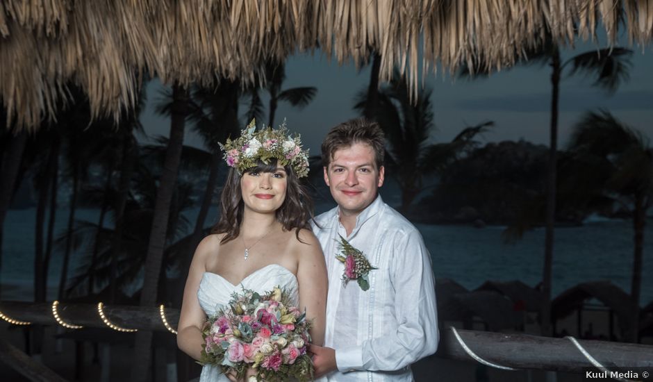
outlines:
[[[377, 192], [384, 153], [381, 128], [365, 119], [332, 128], [322, 142], [324, 181], [338, 206], [313, 224], [329, 297], [325, 347], [311, 345], [311, 352], [316, 376], [329, 381], [413, 381], [411, 363], [438, 347], [431, 256], [415, 226]], [[374, 267], [366, 282], [336, 258], [340, 237]]]

